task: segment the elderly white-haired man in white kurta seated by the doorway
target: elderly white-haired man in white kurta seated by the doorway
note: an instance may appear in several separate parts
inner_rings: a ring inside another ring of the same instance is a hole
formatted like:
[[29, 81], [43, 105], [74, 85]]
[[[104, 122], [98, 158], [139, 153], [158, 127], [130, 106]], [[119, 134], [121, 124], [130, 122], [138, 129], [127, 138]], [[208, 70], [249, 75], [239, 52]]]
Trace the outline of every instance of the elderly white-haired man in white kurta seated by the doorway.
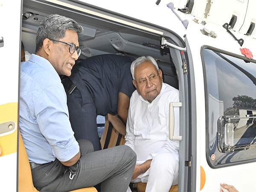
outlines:
[[[147, 183], [146, 192], [169, 192], [178, 183], [179, 142], [169, 140], [169, 103], [179, 102], [179, 91], [163, 83], [162, 71], [151, 56], [131, 64], [133, 84], [125, 145], [137, 154], [131, 182]], [[179, 108], [174, 108], [179, 134]]]

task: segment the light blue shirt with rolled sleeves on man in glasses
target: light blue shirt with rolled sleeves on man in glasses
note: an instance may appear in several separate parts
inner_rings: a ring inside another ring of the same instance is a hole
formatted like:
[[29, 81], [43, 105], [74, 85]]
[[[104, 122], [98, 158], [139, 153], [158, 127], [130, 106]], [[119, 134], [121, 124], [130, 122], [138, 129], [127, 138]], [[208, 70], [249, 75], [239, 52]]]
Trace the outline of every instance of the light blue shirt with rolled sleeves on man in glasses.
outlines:
[[19, 127], [30, 162], [67, 161], [79, 152], [61, 79], [34, 54], [21, 63]]

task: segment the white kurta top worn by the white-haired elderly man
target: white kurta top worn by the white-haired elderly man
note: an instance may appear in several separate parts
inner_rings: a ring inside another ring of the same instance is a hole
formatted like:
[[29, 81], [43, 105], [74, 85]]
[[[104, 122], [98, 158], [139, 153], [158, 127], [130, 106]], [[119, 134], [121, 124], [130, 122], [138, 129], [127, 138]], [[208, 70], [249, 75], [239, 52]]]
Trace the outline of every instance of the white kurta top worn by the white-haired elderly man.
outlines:
[[[136, 152], [137, 164], [149, 159], [154, 160], [154, 157], [159, 154], [170, 153], [173, 161], [177, 161], [175, 169], [178, 169], [176, 166], [178, 166], [179, 159], [179, 141], [169, 140], [170, 102], [179, 102], [179, 91], [165, 83], [163, 83], [160, 94], [151, 103], [143, 99], [137, 90], [132, 94], [126, 125], [125, 145], [130, 146]], [[174, 108], [174, 114], [174, 135], [179, 135], [178, 107]], [[150, 170], [140, 175], [139, 180], [134, 180], [134, 182], [147, 182], [149, 172]]]

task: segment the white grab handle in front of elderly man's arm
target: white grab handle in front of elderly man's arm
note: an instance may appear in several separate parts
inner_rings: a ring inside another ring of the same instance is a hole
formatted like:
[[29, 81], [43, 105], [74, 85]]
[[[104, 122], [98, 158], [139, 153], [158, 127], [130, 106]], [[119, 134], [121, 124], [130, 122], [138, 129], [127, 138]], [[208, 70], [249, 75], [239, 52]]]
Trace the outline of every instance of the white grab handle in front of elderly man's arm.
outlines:
[[170, 102], [169, 104], [169, 139], [175, 141], [181, 141], [182, 136], [174, 136], [174, 108], [173, 107], [181, 107], [181, 102]]

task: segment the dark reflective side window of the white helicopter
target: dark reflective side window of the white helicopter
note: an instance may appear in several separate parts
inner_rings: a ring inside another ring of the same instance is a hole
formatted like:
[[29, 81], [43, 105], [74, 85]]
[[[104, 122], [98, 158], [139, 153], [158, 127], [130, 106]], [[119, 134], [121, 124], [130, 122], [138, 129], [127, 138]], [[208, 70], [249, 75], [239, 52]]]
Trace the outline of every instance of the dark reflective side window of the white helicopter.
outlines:
[[207, 157], [213, 166], [256, 160], [256, 63], [203, 49]]

